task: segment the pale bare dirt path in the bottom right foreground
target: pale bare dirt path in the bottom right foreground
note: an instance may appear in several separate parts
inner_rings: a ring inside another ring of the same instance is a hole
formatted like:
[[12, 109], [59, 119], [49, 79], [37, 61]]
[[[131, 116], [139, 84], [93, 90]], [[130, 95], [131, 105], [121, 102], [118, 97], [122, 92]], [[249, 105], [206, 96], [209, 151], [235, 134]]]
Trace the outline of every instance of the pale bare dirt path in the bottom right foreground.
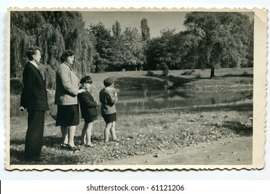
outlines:
[[137, 155], [100, 165], [251, 165], [252, 136], [226, 138], [186, 148]]

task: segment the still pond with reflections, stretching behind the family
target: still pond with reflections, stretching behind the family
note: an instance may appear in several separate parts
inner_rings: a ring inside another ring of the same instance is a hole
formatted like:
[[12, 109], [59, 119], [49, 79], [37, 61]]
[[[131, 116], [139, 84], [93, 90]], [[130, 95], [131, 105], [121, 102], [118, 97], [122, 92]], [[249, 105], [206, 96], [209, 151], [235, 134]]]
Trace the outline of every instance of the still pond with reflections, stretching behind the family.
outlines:
[[[252, 89], [226, 89], [219, 91], [186, 91], [184, 89], [157, 89], [147, 91], [119, 91], [116, 109], [118, 112], [140, 112], [171, 107], [193, 107], [217, 105], [245, 100], [252, 96]], [[98, 99], [96, 99], [98, 100]], [[57, 106], [49, 103], [51, 114], [56, 114]], [[26, 116], [10, 107], [10, 116]], [[100, 112], [100, 105], [98, 107]]]

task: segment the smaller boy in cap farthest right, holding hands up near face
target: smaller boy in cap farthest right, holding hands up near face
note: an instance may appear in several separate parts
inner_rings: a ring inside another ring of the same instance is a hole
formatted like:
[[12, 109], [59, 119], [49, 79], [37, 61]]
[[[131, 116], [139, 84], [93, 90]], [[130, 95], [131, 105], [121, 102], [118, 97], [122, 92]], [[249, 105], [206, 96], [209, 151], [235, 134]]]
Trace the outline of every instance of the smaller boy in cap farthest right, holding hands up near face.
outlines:
[[106, 78], [103, 83], [105, 88], [100, 91], [101, 114], [106, 123], [104, 130], [105, 143], [109, 141], [109, 132], [113, 141], [119, 141], [116, 136], [116, 102], [118, 100], [114, 89], [114, 78]]

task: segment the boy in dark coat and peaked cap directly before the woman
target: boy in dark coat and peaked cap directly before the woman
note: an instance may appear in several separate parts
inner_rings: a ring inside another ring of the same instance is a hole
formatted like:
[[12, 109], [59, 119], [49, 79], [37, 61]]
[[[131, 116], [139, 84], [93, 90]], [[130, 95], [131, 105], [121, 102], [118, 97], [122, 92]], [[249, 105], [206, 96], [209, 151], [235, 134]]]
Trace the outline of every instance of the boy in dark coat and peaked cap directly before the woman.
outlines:
[[93, 100], [93, 96], [90, 94], [91, 83], [93, 83], [91, 77], [84, 76], [80, 80], [80, 89], [85, 89], [85, 91], [78, 94], [80, 112], [82, 114], [82, 118], [84, 118], [84, 127], [82, 128], [82, 144], [86, 145], [87, 147], [93, 146], [91, 144], [91, 130], [93, 127], [93, 121], [97, 120], [98, 116], [98, 103]]

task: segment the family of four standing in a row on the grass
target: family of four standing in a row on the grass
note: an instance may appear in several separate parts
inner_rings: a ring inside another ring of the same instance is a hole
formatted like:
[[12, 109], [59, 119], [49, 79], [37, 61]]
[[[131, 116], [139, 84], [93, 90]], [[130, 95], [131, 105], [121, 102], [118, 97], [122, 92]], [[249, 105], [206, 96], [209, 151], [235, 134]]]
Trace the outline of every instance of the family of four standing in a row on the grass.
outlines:
[[[41, 53], [38, 47], [30, 47], [26, 53], [28, 63], [23, 71], [24, 89], [21, 94], [20, 111], [27, 109], [28, 129], [26, 131], [26, 141], [24, 155], [26, 159], [40, 161], [44, 159], [42, 155], [42, 145], [44, 136], [45, 112], [49, 109], [46, 94], [46, 85], [39, 71], [39, 60]], [[76, 126], [80, 123], [79, 104], [84, 118], [82, 128], [81, 143], [86, 147], [93, 147], [91, 143], [91, 129], [93, 121], [97, 120], [98, 102], [90, 94], [90, 76], [80, 79], [73, 70], [74, 52], [66, 50], [62, 54], [61, 64], [56, 72], [55, 105], [57, 105], [57, 116], [55, 126], [60, 126], [62, 132], [61, 148], [68, 150], [79, 150], [74, 143]], [[104, 130], [105, 142], [109, 141], [111, 133], [112, 141], [119, 141], [116, 132], [116, 102], [117, 92], [114, 89], [114, 78], [104, 80], [105, 88], [100, 91], [101, 114], [105, 120]]]

